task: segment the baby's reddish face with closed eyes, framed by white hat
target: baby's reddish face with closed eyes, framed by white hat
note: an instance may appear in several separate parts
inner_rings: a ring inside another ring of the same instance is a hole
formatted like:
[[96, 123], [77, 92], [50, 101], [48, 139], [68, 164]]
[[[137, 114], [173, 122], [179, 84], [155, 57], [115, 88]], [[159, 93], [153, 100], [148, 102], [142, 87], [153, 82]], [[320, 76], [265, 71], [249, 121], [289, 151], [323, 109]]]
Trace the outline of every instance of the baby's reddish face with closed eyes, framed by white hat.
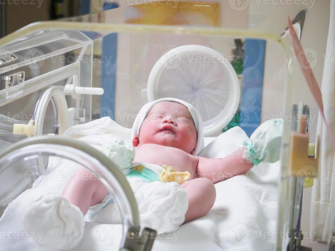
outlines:
[[158, 144], [193, 154], [197, 132], [192, 116], [184, 105], [162, 101], [155, 104], [144, 119], [138, 141], [139, 145]]

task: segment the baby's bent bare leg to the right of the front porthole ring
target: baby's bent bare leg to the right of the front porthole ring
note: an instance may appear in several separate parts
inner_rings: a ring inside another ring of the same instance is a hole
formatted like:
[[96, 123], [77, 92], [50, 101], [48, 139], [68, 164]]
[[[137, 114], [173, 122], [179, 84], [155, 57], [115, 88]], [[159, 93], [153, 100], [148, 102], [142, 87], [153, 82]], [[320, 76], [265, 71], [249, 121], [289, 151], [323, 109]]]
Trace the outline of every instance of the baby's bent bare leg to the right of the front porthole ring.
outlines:
[[206, 215], [216, 197], [213, 182], [207, 178], [196, 178], [185, 182], [181, 187], [186, 190], [189, 201], [184, 223]]

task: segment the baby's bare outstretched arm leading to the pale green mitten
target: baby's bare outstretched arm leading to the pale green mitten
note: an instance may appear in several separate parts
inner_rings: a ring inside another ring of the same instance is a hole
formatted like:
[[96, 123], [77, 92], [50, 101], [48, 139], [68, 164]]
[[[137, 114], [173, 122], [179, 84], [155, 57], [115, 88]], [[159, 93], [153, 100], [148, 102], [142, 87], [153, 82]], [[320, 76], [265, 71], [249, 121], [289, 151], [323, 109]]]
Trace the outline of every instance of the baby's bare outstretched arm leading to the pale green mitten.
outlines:
[[242, 158], [244, 148], [218, 159], [198, 157], [197, 176], [210, 179], [213, 183], [247, 172], [253, 164]]

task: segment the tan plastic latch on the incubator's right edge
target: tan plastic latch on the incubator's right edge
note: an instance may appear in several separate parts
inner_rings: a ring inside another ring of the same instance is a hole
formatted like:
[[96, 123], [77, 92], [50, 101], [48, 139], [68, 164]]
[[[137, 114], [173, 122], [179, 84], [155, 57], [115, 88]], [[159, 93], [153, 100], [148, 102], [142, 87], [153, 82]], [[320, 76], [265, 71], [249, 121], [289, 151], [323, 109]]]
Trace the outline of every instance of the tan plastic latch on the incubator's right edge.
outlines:
[[313, 149], [313, 145], [309, 144], [309, 133], [306, 133], [306, 115], [301, 115], [299, 131], [291, 132], [290, 135], [289, 167], [292, 176], [304, 177], [304, 186], [313, 185], [313, 179], [318, 176], [319, 136], [314, 154]]

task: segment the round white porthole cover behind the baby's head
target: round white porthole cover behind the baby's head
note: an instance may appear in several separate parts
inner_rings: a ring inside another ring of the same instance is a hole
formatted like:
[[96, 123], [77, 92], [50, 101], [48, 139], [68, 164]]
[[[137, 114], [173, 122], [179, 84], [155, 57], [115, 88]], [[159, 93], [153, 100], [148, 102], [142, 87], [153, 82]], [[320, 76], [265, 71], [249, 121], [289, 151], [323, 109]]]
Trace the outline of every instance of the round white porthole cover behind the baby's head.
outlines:
[[172, 97], [192, 104], [203, 119], [204, 136], [225, 127], [240, 101], [235, 70], [219, 52], [199, 45], [177, 47], [152, 68], [148, 101]]

